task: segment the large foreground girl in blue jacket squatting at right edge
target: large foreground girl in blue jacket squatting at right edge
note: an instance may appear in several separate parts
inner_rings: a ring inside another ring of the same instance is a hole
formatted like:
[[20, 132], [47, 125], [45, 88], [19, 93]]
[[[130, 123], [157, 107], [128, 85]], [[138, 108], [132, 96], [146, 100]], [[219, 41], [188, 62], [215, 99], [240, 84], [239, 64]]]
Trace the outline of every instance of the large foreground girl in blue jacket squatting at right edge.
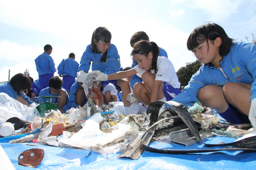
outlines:
[[234, 42], [216, 23], [205, 23], [189, 35], [187, 48], [204, 64], [173, 101], [192, 106], [199, 100], [233, 124], [250, 123], [248, 115], [256, 111], [256, 45]]

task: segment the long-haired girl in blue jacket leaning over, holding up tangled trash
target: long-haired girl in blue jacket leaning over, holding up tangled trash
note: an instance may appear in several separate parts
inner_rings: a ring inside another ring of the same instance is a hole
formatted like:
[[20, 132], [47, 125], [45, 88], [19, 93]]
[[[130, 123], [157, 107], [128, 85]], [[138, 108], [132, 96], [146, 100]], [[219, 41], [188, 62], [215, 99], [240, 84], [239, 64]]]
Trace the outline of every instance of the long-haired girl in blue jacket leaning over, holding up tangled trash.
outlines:
[[[120, 70], [120, 57], [117, 48], [111, 44], [112, 35], [105, 27], [98, 27], [92, 35], [91, 44], [84, 51], [78, 71], [83, 70], [88, 73], [92, 64], [92, 70], [99, 70], [106, 75], [113, 74]], [[122, 90], [122, 98], [126, 99], [131, 93], [130, 84], [127, 79], [111, 81], [118, 89]], [[123, 101], [125, 114], [130, 114], [130, 102]]]

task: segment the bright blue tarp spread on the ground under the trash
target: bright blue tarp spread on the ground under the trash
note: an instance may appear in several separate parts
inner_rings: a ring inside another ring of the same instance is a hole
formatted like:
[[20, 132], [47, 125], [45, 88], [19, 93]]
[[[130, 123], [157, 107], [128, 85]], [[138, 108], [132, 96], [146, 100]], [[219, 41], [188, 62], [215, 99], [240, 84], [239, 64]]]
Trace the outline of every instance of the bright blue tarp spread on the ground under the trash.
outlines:
[[[215, 136], [205, 140], [207, 143], [233, 142], [236, 139]], [[120, 153], [103, 155], [72, 148], [49, 147], [39, 143], [38, 146], [26, 144], [0, 143], [16, 169], [30, 169], [18, 165], [18, 156], [23, 151], [39, 148], [45, 151], [45, 157], [38, 169], [255, 169], [256, 153], [232, 151], [201, 153], [189, 155], [169, 155], [143, 152], [138, 160], [118, 158]], [[159, 149], [202, 149], [202, 143], [185, 147], [168, 141], [152, 142], [151, 147]], [[216, 149], [217, 147], [215, 147]], [[218, 147], [220, 148], [220, 147]], [[212, 148], [207, 148], [212, 149]]]

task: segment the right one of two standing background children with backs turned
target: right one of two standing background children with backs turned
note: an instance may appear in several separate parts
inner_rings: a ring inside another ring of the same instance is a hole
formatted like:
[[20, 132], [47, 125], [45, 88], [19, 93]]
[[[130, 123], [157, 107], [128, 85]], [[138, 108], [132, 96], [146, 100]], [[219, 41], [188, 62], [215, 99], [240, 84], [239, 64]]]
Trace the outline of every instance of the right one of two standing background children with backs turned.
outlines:
[[59, 77], [63, 77], [63, 85], [62, 88], [65, 88], [66, 91], [70, 92], [71, 86], [76, 82], [77, 70], [79, 64], [75, 61], [75, 54], [70, 53], [68, 59], [63, 59], [57, 69]]

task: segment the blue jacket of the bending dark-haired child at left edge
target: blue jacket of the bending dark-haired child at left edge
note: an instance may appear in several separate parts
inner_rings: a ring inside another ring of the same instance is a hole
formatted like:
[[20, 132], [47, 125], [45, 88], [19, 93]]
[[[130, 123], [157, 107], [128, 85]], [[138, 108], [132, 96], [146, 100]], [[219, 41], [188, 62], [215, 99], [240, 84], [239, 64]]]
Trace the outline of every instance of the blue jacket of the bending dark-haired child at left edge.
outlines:
[[[18, 93], [12, 88], [12, 85], [10, 85], [10, 82], [0, 84], [0, 92], [4, 92], [4, 93], [8, 94], [11, 98], [13, 98], [15, 100], [17, 100], [17, 98], [18, 98]], [[34, 102], [31, 102], [31, 100], [29, 100], [29, 97], [25, 93], [19, 93], [19, 94], [22, 95], [22, 97], [29, 104], [34, 103]]]

